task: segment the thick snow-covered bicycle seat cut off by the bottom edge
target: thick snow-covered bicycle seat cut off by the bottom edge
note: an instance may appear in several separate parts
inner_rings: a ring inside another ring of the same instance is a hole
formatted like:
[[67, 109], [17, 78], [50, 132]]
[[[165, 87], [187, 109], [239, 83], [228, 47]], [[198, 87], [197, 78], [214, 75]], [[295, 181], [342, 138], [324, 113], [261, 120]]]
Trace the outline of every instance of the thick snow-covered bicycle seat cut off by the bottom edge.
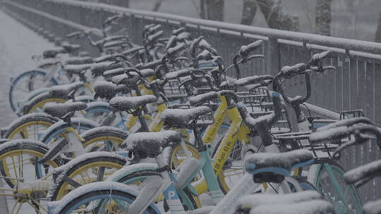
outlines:
[[262, 204], [250, 210], [250, 214], [334, 214], [332, 203], [321, 199], [300, 203]]

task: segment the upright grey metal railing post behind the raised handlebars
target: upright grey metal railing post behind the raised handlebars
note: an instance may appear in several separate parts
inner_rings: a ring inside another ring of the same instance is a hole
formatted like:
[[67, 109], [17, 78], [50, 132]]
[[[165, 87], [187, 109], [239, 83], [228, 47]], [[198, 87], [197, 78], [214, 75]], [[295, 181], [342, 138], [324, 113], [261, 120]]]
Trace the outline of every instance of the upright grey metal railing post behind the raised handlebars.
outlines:
[[266, 73], [275, 75], [280, 70], [280, 51], [278, 39], [275, 37], [269, 37], [266, 46]]

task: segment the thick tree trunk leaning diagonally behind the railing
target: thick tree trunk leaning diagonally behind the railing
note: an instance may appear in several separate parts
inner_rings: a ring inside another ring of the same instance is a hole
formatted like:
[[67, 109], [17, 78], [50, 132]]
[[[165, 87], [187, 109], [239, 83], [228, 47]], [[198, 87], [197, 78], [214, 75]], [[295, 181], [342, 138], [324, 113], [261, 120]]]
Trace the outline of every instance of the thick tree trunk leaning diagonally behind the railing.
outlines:
[[280, 30], [297, 30], [294, 18], [282, 11], [281, 1], [257, 0], [258, 6], [267, 20], [270, 28]]

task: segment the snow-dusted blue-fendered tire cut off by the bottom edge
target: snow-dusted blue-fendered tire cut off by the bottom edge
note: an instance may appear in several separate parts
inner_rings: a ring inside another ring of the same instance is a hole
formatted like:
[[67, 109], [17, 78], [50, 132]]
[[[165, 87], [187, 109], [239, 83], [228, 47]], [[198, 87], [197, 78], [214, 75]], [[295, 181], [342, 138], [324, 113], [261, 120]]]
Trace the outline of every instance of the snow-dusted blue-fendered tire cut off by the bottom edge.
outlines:
[[[83, 190], [85, 190], [85, 187], [86, 186], [83, 186]], [[78, 188], [78, 190], [82, 191], [82, 189]], [[68, 195], [70, 196], [70, 195]], [[136, 196], [126, 192], [126, 191], [121, 191], [119, 189], [114, 189], [114, 188], [98, 188], [96, 190], [92, 190], [92, 191], [85, 191], [85, 192], [82, 192], [81, 194], [75, 194], [75, 197], [71, 200], [69, 200], [68, 202], [66, 202], [66, 200], [63, 200], [65, 201], [66, 203], [64, 205], [61, 205], [61, 209], [58, 209], [58, 210], [54, 210], [54, 213], [57, 213], [57, 214], [69, 214], [71, 213], [73, 210], [75, 210], [75, 208], [79, 207], [80, 205], [87, 205], [88, 203], [90, 203], [90, 201], [99, 201], [99, 200], [102, 200], [102, 199], [105, 199], [105, 200], [109, 200], [109, 199], [116, 199], [118, 200], [119, 202], [121, 201], [126, 201], [128, 203], [131, 203], [132, 201], [134, 201], [136, 199]], [[117, 204], [117, 203], [115, 203]], [[99, 210], [98, 210], [99, 211]], [[94, 212], [92, 212], [94, 213]], [[97, 212], [98, 213], [98, 212]], [[149, 213], [149, 214], [160, 214], [159, 210], [155, 209], [152, 207], [152, 205], [148, 206], [147, 210], [144, 211], [145, 214]]]

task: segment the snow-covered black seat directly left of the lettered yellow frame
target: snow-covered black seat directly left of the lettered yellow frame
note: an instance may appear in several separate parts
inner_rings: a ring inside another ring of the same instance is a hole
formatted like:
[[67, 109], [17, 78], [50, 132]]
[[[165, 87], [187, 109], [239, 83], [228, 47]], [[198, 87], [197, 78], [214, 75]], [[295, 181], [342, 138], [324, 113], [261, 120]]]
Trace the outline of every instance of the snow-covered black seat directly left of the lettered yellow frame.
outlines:
[[211, 112], [212, 110], [207, 106], [198, 106], [188, 109], [166, 109], [162, 113], [162, 121], [164, 121], [164, 127], [186, 128], [193, 120]]

